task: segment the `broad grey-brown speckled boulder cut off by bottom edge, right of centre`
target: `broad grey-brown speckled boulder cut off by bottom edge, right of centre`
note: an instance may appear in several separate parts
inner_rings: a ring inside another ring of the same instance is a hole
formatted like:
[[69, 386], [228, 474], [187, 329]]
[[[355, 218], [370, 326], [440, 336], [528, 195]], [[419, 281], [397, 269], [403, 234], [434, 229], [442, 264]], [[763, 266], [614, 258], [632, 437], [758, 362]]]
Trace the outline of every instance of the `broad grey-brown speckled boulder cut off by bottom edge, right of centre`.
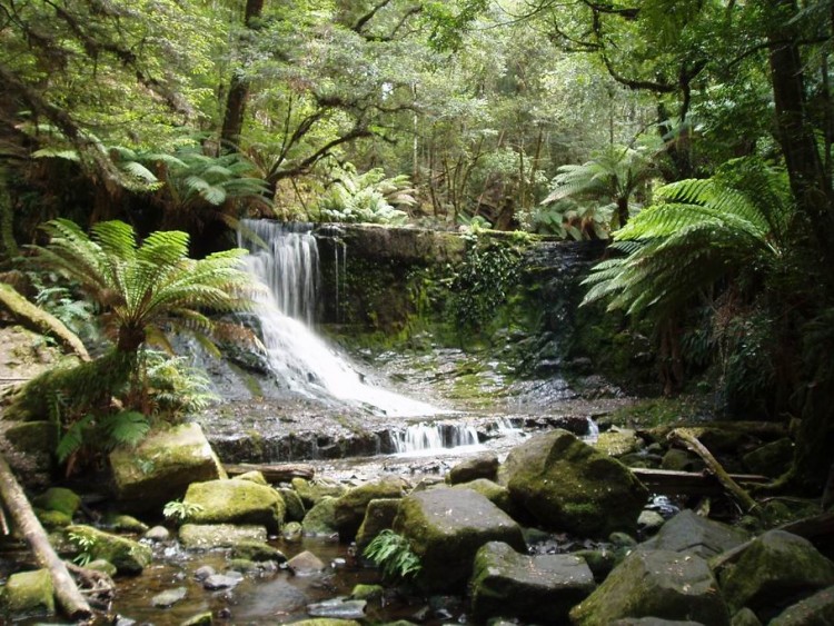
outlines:
[[729, 613], [705, 559], [671, 550], [637, 549], [570, 610], [577, 626], [656, 617], [727, 626]]

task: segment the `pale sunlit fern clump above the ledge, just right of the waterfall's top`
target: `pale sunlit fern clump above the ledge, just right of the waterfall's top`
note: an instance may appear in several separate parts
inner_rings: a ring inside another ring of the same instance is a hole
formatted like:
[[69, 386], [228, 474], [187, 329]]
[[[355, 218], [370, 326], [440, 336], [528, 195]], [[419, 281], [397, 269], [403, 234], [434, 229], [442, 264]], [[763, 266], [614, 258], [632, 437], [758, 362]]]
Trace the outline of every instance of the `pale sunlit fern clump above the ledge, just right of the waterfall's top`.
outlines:
[[335, 173], [336, 181], [318, 201], [324, 221], [404, 223], [403, 208], [417, 203], [407, 176], [386, 178], [381, 169], [357, 173], [348, 163]]

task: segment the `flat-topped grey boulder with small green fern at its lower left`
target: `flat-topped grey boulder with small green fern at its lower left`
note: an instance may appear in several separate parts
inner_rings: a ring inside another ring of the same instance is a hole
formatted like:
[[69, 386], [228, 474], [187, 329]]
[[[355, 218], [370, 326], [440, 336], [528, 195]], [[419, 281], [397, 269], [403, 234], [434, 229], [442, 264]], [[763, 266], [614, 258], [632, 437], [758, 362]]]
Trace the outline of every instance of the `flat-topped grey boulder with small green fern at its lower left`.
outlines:
[[471, 576], [475, 554], [488, 541], [525, 548], [518, 525], [471, 489], [440, 487], [403, 498], [394, 530], [409, 540], [420, 558], [417, 584], [429, 592], [463, 588]]

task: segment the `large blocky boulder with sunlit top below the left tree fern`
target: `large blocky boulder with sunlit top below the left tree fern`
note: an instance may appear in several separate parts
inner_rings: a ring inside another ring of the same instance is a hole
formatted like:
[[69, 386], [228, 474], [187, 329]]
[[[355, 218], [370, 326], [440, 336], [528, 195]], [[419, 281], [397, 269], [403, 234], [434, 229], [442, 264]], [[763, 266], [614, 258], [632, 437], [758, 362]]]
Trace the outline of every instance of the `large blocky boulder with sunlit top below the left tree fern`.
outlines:
[[110, 453], [116, 497], [131, 511], [159, 508], [182, 497], [191, 483], [225, 478], [198, 424], [148, 436], [136, 448]]

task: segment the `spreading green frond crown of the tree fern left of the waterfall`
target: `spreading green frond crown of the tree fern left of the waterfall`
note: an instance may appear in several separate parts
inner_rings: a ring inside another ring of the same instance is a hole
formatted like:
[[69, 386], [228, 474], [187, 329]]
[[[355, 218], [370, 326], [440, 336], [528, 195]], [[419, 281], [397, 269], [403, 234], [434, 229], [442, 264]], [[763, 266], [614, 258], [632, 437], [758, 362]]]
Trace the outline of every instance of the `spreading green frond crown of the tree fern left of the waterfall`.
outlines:
[[96, 223], [91, 236], [66, 219], [43, 229], [51, 241], [33, 247], [36, 261], [78, 282], [99, 307], [99, 319], [119, 350], [136, 352], [146, 340], [168, 348], [163, 325], [206, 334], [215, 325], [203, 309], [249, 307], [246, 294], [255, 287], [240, 268], [246, 250], [193, 260], [187, 233], [157, 231], [138, 245], [133, 229], [121, 221]]

